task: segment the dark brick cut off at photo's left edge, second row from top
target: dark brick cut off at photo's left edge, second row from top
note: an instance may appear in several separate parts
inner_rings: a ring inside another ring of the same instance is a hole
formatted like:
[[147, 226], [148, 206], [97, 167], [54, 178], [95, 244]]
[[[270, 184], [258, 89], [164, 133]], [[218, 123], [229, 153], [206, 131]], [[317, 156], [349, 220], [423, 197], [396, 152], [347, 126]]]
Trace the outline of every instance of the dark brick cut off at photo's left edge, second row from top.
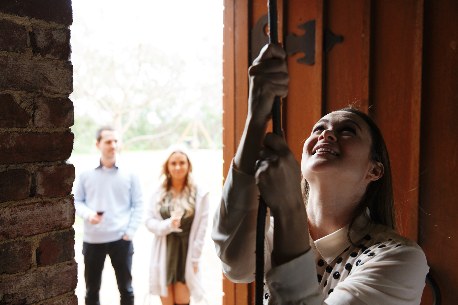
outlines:
[[26, 28], [13, 21], [0, 20], [0, 50], [21, 53], [27, 52]]

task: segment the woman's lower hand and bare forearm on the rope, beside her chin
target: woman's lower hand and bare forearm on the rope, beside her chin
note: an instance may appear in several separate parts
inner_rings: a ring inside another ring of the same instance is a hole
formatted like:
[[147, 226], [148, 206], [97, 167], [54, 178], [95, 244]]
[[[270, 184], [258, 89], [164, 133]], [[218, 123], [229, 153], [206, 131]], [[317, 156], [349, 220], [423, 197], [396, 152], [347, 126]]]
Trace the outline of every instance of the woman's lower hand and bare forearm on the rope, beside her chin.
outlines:
[[300, 189], [300, 166], [286, 141], [266, 134], [256, 170], [256, 184], [275, 223], [273, 259], [277, 265], [310, 250], [307, 212]]

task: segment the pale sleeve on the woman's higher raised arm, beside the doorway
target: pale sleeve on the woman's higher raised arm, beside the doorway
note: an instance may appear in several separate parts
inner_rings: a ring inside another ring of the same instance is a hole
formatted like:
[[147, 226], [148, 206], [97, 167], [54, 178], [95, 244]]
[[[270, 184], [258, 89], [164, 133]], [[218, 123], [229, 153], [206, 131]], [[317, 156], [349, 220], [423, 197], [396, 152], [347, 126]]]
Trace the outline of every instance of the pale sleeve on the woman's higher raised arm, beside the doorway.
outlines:
[[[224, 274], [236, 283], [254, 280], [258, 196], [254, 176], [231, 166], [224, 182], [221, 202], [213, 217], [212, 239]], [[266, 217], [266, 272], [270, 269], [273, 250], [273, 227], [270, 223], [270, 217]]]

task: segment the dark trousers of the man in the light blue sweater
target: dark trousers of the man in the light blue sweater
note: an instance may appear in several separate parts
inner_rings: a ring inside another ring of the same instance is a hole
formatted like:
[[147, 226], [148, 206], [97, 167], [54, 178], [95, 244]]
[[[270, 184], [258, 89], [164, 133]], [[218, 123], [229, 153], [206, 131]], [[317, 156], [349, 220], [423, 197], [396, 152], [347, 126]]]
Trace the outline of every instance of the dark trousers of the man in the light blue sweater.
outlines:
[[121, 294], [120, 305], [133, 305], [134, 292], [132, 289], [132, 241], [107, 242], [104, 244], [89, 244], [83, 242], [84, 279], [86, 280], [86, 305], [100, 305], [99, 290], [102, 284], [102, 270], [106, 255], [110, 256], [111, 264], [116, 274], [116, 282]]

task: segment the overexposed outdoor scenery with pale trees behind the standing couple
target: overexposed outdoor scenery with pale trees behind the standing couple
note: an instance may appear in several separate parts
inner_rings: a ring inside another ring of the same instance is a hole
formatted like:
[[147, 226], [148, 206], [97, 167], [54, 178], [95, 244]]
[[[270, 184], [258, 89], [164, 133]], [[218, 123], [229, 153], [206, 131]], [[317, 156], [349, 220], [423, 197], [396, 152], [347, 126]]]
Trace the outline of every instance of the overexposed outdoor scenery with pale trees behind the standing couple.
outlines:
[[[210, 187], [210, 217], [202, 251], [202, 283], [211, 305], [222, 303], [221, 263], [210, 238], [221, 196], [223, 2], [220, 0], [73, 0], [75, 142], [70, 162], [79, 174], [98, 162], [95, 132], [120, 133], [120, 157], [136, 169], [145, 203], [158, 181], [164, 150], [191, 149], [194, 175]], [[82, 224], [76, 216], [76, 295], [84, 304]], [[135, 304], [161, 304], [148, 294], [153, 234], [142, 224], [134, 237]], [[100, 291], [102, 305], [119, 304], [109, 257]], [[202, 301], [205, 304], [205, 301]], [[201, 302], [201, 303], [202, 303]], [[192, 300], [191, 300], [192, 303]]]

